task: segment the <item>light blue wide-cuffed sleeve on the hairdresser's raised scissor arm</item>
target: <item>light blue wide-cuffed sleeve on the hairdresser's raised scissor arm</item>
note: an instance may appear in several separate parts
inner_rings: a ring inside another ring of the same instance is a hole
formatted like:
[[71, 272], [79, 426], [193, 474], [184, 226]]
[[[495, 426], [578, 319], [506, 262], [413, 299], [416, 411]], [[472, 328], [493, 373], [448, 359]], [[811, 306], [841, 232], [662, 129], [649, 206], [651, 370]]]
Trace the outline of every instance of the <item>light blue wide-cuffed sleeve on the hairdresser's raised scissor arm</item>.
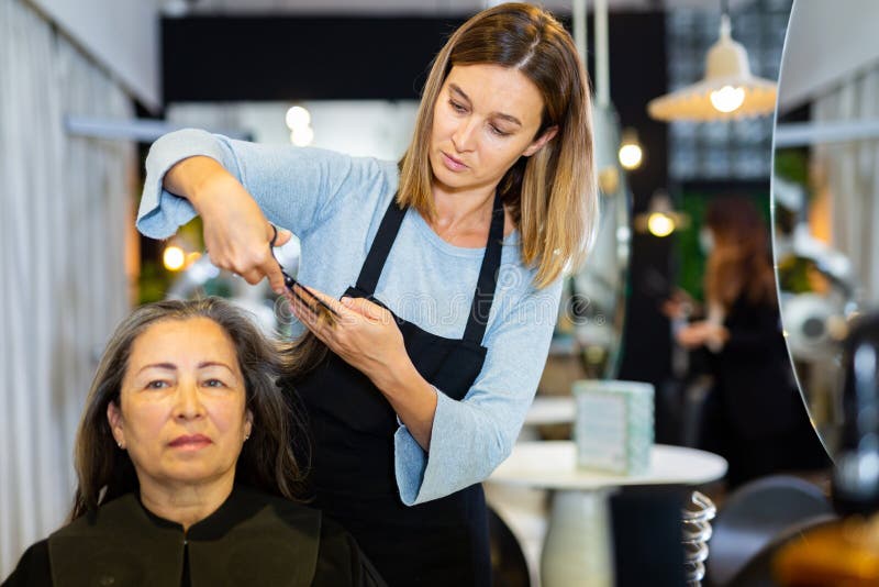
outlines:
[[[137, 229], [154, 239], [173, 235], [196, 210], [185, 198], [164, 189], [165, 174], [197, 155], [211, 157], [242, 182], [270, 222], [300, 237], [318, 229], [343, 204], [387, 184], [389, 166], [370, 157], [293, 145], [264, 145], [236, 141], [197, 129], [185, 129], [157, 140], [146, 158]], [[391, 173], [393, 171], [390, 168]]]

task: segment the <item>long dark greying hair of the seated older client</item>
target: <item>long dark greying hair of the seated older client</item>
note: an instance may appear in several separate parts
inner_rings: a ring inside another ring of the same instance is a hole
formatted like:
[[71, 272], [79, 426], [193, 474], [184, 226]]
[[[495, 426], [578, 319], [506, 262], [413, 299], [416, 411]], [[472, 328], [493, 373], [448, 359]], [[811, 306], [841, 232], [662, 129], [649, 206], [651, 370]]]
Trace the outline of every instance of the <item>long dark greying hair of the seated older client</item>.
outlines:
[[111, 401], [119, 405], [134, 341], [157, 322], [193, 318], [212, 320], [225, 331], [244, 376], [245, 405], [253, 414], [253, 430], [238, 456], [235, 483], [290, 499], [303, 495], [303, 470], [291, 442], [304, 443], [307, 436], [301, 419], [291, 411], [277, 386], [280, 374], [277, 350], [244, 311], [224, 300], [166, 300], [134, 310], [107, 344], [77, 432], [75, 466], [79, 485], [70, 520], [138, 489], [129, 453], [119, 448], [113, 439], [107, 407]]

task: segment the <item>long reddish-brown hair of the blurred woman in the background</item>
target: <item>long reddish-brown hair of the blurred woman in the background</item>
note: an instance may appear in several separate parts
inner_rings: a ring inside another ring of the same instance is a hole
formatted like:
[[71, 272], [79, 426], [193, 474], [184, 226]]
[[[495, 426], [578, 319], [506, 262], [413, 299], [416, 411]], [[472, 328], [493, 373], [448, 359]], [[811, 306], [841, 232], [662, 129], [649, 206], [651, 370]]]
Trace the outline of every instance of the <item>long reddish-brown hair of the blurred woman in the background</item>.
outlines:
[[709, 206], [705, 224], [714, 239], [705, 269], [708, 300], [725, 311], [742, 295], [752, 303], [775, 303], [769, 234], [755, 206], [741, 197], [717, 198]]

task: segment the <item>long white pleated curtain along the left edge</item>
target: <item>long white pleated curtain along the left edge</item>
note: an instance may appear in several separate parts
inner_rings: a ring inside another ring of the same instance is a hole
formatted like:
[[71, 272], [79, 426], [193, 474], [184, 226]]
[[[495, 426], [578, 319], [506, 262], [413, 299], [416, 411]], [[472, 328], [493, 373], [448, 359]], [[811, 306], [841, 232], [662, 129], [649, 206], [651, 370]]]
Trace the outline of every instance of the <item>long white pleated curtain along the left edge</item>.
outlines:
[[69, 136], [66, 114], [132, 106], [29, 3], [0, 0], [0, 578], [69, 510], [76, 425], [129, 309], [134, 146]]

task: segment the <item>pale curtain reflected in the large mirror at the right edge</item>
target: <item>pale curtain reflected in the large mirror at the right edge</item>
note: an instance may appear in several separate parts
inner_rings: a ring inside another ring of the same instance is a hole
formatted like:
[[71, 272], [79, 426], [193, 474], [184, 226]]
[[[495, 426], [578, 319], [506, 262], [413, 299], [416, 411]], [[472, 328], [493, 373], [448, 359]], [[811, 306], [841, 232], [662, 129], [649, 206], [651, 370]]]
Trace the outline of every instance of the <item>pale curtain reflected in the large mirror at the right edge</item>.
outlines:
[[[879, 64], [815, 100], [816, 122], [879, 120]], [[832, 244], [852, 259], [870, 307], [879, 302], [879, 136], [814, 149], [819, 189], [827, 189]]]

